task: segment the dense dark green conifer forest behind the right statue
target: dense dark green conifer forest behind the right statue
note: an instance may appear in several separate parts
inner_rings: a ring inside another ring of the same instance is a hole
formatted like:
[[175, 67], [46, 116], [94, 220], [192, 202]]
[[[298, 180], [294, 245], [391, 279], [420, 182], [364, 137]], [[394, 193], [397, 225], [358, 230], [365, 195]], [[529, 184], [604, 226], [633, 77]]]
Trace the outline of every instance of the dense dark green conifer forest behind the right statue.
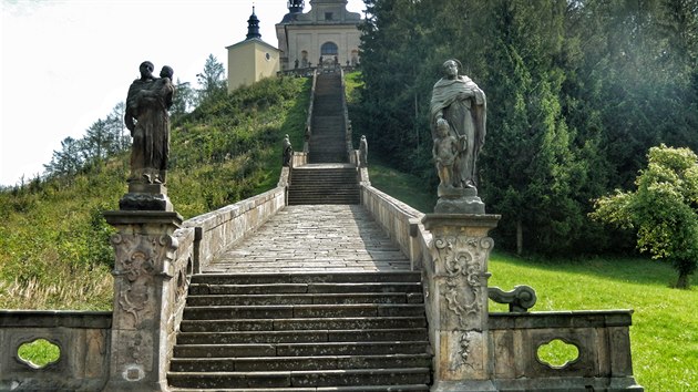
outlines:
[[589, 200], [632, 186], [650, 146], [698, 147], [698, 0], [365, 2], [355, 128], [435, 186], [429, 99], [460, 59], [487, 94], [479, 193], [505, 248], [629, 248]]

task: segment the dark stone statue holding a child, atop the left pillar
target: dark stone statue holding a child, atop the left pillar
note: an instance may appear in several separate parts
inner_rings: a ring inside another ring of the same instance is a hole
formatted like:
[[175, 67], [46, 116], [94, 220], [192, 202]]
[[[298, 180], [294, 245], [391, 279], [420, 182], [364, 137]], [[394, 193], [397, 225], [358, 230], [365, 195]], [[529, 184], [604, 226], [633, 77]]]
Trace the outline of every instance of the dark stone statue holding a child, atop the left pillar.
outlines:
[[154, 65], [144, 61], [141, 78], [131, 83], [126, 97], [124, 123], [131, 131], [130, 183], [165, 184], [170, 156], [170, 113], [175, 87], [172, 68], [165, 65], [160, 78]]

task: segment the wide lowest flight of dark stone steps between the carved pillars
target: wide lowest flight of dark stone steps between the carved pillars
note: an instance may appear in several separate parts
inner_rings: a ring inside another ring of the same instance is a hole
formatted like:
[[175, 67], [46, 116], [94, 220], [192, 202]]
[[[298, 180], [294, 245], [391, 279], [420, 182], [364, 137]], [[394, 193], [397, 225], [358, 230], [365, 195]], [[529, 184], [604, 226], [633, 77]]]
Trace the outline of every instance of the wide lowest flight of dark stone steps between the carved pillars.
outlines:
[[429, 391], [420, 272], [196, 275], [173, 391]]

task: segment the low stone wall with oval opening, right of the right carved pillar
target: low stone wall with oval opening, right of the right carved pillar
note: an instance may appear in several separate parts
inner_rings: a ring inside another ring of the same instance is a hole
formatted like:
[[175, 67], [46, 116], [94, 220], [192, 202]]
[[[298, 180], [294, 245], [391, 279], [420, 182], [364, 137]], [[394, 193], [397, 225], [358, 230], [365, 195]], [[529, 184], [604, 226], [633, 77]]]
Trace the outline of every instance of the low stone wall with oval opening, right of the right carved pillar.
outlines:
[[[633, 378], [632, 314], [630, 310], [490, 313], [497, 390], [641, 391]], [[547, 363], [538, 350], [556, 340], [574, 345], [577, 357]]]

